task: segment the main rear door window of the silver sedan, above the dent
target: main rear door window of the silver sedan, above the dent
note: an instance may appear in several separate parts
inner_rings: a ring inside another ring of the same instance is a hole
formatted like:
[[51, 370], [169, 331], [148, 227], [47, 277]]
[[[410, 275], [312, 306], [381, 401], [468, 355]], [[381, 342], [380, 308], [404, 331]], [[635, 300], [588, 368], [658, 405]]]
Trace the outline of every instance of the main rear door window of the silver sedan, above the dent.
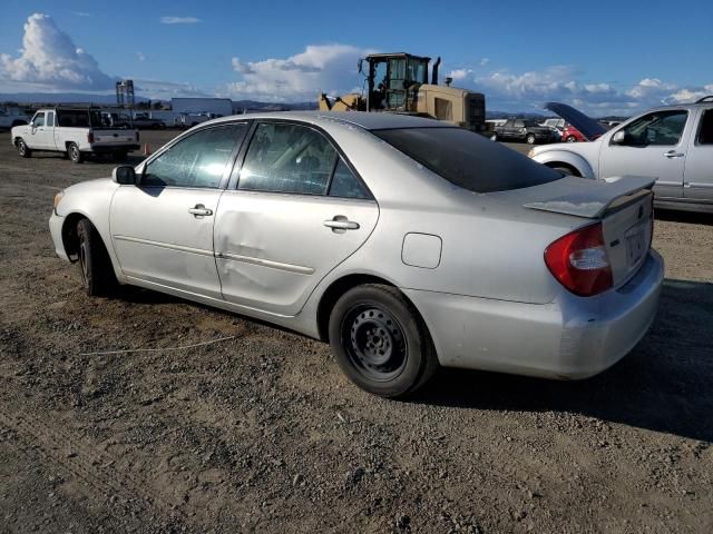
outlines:
[[336, 157], [334, 147], [312, 128], [261, 123], [245, 156], [237, 188], [324, 195]]

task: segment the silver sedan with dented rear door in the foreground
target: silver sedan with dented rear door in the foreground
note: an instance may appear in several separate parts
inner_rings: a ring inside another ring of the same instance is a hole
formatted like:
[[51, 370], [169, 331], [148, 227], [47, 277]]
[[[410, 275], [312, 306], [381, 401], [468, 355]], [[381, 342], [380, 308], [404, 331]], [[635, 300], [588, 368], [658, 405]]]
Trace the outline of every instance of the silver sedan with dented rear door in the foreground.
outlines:
[[261, 113], [65, 189], [49, 225], [89, 295], [131, 284], [329, 340], [393, 397], [439, 365], [564, 379], [622, 358], [663, 279], [652, 185], [430, 119]]

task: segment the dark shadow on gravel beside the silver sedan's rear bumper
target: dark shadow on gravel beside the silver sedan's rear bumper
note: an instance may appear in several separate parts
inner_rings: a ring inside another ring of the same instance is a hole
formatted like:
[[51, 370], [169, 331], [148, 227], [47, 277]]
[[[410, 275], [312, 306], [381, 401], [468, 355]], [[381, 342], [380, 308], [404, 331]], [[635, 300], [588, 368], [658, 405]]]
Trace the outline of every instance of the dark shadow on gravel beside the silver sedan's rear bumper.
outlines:
[[587, 380], [443, 369], [411, 402], [462, 408], [567, 412], [713, 442], [713, 284], [665, 280], [638, 346]]

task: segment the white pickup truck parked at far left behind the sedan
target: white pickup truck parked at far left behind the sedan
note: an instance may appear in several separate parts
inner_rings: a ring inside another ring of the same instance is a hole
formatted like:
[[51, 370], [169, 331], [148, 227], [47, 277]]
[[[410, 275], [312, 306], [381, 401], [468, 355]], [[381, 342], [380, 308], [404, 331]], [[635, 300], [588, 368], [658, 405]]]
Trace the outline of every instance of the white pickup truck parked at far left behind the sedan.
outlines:
[[62, 152], [74, 164], [87, 155], [109, 155], [121, 161], [139, 148], [138, 131], [111, 127], [99, 109], [49, 108], [38, 110], [29, 125], [11, 130], [12, 145], [22, 158], [33, 151]]

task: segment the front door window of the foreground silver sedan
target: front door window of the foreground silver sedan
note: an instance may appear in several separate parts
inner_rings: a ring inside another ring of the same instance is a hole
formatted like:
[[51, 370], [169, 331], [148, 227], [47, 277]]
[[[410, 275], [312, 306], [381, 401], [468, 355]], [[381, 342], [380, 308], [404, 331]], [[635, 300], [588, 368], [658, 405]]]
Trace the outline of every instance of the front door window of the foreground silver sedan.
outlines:
[[247, 125], [226, 125], [197, 131], [178, 141], [146, 166], [143, 186], [207, 187], [221, 185], [231, 154], [245, 137]]

